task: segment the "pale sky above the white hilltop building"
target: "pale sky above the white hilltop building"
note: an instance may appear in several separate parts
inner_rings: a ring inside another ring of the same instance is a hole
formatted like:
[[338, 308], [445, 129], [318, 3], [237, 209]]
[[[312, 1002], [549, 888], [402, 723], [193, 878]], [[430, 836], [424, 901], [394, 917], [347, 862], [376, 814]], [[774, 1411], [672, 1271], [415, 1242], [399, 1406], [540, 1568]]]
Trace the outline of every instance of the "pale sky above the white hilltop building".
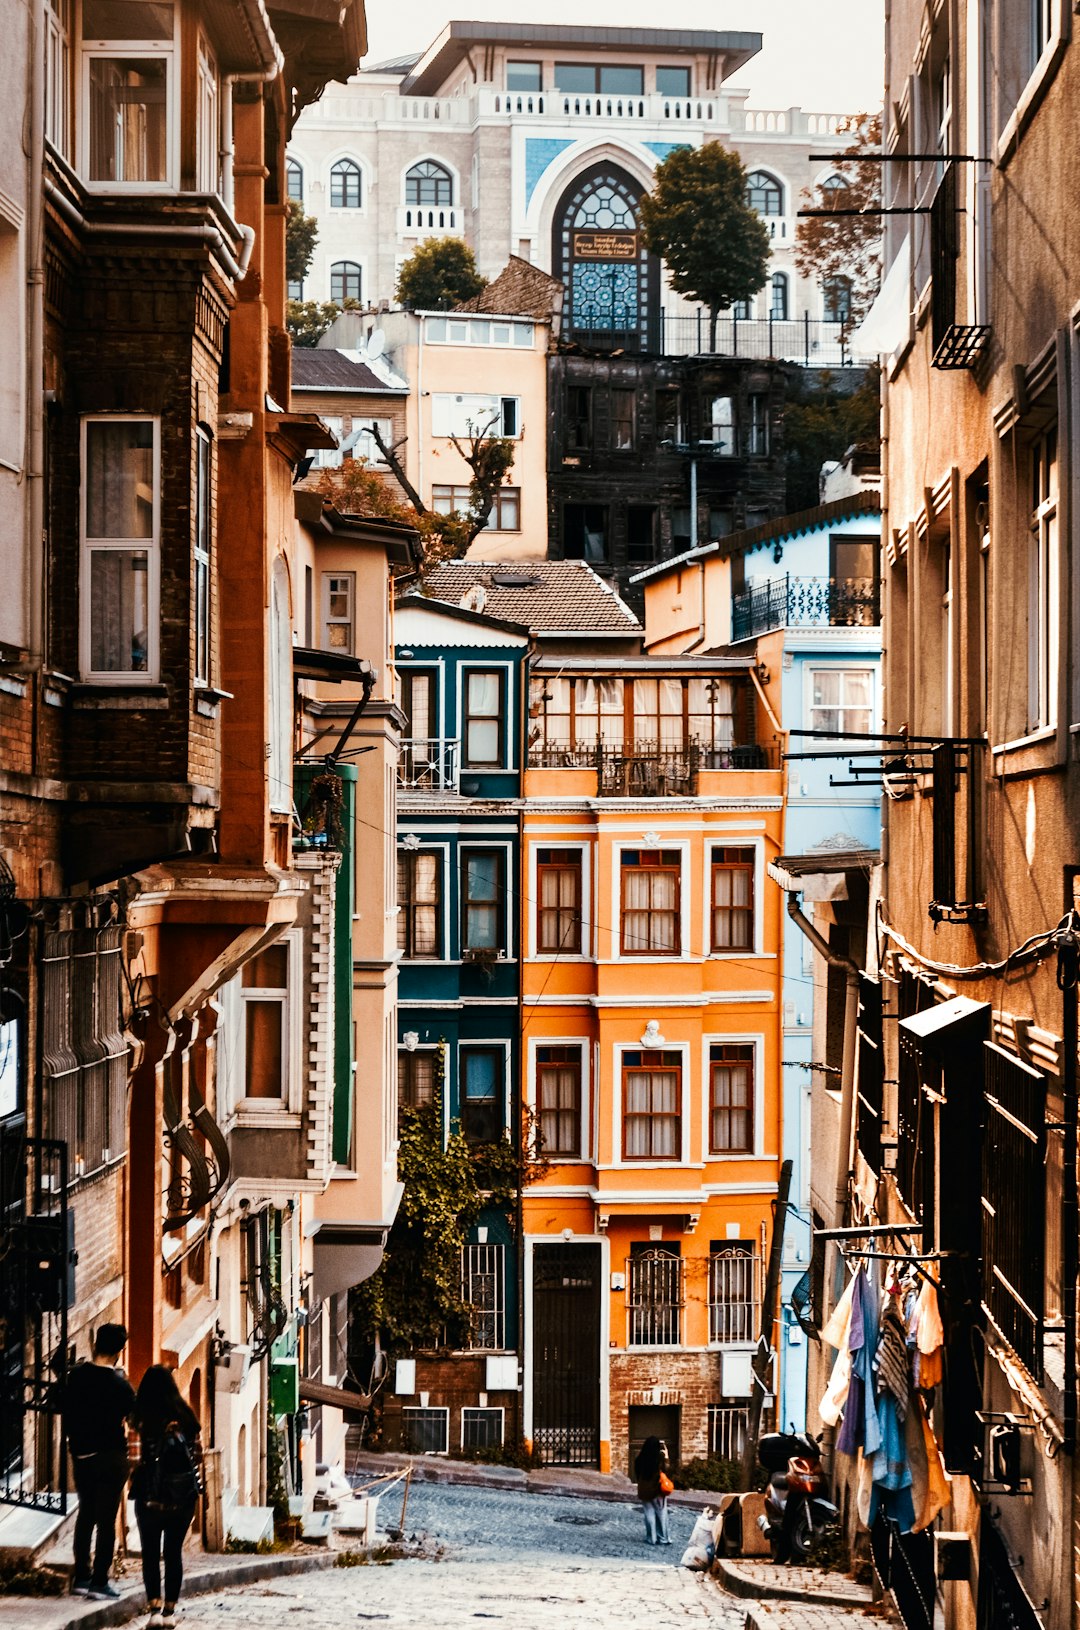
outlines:
[[[368, 62], [425, 49], [451, 20], [656, 28], [655, 0], [367, 0]], [[748, 29], [759, 55], [731, 85], [751, 108], [858, 112], [881, 106], [885, 0], [681, 0], [670, 28]]]

